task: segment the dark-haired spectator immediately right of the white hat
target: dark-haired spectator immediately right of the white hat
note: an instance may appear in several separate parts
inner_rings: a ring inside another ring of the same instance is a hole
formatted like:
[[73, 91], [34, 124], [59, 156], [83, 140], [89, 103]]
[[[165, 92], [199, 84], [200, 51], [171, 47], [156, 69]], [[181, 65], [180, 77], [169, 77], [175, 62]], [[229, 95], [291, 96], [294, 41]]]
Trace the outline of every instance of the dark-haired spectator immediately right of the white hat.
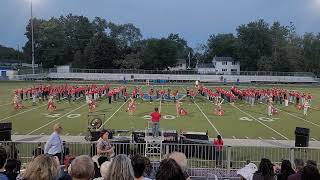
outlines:
[[258, 171], [254, 173], [253, 180], [276, 180], [274, 175], [273, 164], [269, 159], [262, 158]]

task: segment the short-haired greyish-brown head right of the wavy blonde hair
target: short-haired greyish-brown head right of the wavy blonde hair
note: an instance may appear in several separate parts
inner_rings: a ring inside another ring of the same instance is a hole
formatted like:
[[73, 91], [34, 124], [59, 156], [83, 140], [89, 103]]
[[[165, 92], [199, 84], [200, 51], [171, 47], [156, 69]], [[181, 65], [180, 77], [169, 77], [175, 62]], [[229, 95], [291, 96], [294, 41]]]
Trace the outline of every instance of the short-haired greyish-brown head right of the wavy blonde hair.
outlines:
[[71, 162], [70, 175], [73, 180], [89, 180], [94, 177], [94, 165], [92, 159], [87, 155], [76, 157]]

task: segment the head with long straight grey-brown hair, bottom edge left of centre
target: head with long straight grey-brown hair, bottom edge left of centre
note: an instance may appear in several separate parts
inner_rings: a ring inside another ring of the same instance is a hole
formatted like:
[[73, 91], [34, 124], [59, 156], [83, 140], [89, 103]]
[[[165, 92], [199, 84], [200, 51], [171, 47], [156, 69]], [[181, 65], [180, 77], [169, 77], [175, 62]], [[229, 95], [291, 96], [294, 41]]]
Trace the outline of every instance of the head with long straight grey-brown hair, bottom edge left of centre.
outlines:
[[111, 162], [106, 179], [132, 180], [134, 176], [130, 159], [124, 155], [117, 155]]

